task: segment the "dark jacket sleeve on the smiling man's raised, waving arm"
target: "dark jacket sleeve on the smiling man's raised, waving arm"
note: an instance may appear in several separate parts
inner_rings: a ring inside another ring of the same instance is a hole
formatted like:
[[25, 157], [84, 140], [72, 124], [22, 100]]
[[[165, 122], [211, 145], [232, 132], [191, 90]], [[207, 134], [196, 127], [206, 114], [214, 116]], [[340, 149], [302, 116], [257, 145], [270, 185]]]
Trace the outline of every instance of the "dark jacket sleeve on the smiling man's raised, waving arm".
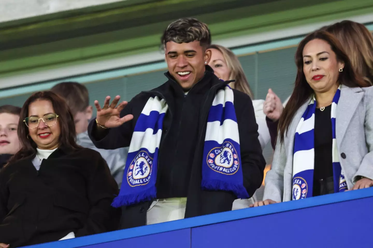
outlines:
[[[127, 106], [120, 112], [120, 117], [126, 115], [134, 115], [132, 106], [134, 105], [135, 98], [132, 99]], [[117, 149], [127, 147], [131, 143], [132, 133], [134, 131], [134, 119], [123, 123], [117, 128], [107, 129], [103, 136], [98, 136], [96, 119], [91, 120], [88, 125], [88, 136], [97, 148], [101, 149]]]

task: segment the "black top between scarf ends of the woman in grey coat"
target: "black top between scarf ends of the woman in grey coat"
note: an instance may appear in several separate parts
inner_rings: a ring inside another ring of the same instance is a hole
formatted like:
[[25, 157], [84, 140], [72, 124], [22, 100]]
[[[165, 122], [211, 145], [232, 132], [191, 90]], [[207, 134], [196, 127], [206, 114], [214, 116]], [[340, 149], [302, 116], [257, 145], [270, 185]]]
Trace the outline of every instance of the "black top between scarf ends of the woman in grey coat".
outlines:
[[320, 180], [333, 177], [331, 110], [332, 105], [329, 105], [325, 107], [324, 111], [316, 108], [315, 112], [313, 196], [320, 195], [320, 190], [318, 189]]

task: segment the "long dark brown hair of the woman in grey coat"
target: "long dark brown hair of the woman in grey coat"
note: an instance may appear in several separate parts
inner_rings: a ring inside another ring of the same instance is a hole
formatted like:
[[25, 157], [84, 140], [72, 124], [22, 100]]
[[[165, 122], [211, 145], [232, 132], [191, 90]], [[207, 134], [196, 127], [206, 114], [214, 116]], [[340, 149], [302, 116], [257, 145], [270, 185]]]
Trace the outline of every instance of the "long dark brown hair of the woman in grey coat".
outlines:
[[355, 73], [350, 59], [343, 50], [341, 43], [339, 43], [335, 36], [325, 31], [316, 31], [307, 35], [307, 37], [300, 42], [297, 52], [295, 53], [295, 64], [297, 64], [298, 72], [297, 77], [295, 78], [294, 91], [291, 94], [289, 102], [286, 104], [286, 107], [283, 110], [279, 120], [279, 136], [281, 142], [283, 142], [285, 132], [288, 132], [288, 128], [295, 115], [295, 112], [297, 112], [299, 107], [302, 106], [302, 104], [304, 104], [314, 93], [310, 85], [307, 83], [303, 73], [303, 49], [308, 42], [314, 39], [322, 39], [323, 41], [326, 41], [332, 48], [332, 51], [335, 53], [336, 59], [344, 62], [345, 66], [343, 71], [339, 73], [338, 76], [338, 82], [340, 84], [347, 87], [369, 86], [369, 84], [364, 81], [360, 75]]

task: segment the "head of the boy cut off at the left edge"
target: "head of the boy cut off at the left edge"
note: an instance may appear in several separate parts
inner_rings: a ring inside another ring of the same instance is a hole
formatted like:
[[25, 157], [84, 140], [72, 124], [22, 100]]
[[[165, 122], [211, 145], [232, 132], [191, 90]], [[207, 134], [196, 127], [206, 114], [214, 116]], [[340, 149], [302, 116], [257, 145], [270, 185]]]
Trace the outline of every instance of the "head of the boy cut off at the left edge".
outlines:
[[0, 169], [21, 149], [17, 129], [21, 108], [0, 106]]

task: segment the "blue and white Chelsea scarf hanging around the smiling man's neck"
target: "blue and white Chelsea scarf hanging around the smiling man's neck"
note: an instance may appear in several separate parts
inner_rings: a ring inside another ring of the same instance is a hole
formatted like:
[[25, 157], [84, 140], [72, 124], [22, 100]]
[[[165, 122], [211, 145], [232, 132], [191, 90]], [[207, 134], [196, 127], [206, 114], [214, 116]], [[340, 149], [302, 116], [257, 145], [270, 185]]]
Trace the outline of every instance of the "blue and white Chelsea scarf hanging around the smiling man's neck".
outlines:
[[[229, 86], [217, 91], [209, 110], [202, 158], [201, 188], [232, 191], [249, 198], [243, 186], [238, 125]], [[150, 97], [134, 129], [122, 186], [112, 206], [128, 206], [156, 198], [159, 144], [168, 106]], [[163, 151], [167, 152], [167, 151]]]

